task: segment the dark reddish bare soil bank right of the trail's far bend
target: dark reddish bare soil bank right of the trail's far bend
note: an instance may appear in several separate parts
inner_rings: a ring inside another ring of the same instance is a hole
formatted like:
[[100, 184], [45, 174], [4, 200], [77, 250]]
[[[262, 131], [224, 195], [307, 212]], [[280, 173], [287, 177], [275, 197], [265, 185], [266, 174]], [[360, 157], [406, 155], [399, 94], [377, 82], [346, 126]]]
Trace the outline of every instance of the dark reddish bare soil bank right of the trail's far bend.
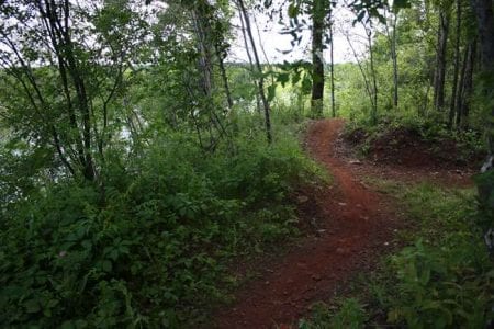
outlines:
[[[361, 148], [367, 145], [367, 156]], [[340, 134], [336, 154], [364, 177], [402, 182], [430, 181], [446, 186], [472, 186], [482, 156], [454, 140], [433, 143], [413, 129], [394, 129], [370, 138], [362, 129]]]

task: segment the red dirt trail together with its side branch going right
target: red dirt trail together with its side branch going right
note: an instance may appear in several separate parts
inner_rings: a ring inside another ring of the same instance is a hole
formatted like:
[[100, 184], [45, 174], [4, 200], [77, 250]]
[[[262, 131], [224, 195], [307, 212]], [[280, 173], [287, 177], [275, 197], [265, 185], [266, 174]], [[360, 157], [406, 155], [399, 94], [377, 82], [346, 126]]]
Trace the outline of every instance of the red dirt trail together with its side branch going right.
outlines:
[[[343, 141], [343, 120], [314, 122], [305, 147], [334, 178], [329, 188], [301, 191], [295, 198], [311, 234], [283, 256], [258, 264], [259, 275], [236, 294], [236, 304], [216, 315], [217, 328], [296, 328], [316, 302], [332, 302], [349, 280], [370, 273], [395, 250], [394, 236], [406, 219], [392, 195], [368, 184], [369, 178], [437, 181], [471, 185], [468, 170], [384, 164], [357, 160]], [[293, 327], [291, 327], [293, 326]]]

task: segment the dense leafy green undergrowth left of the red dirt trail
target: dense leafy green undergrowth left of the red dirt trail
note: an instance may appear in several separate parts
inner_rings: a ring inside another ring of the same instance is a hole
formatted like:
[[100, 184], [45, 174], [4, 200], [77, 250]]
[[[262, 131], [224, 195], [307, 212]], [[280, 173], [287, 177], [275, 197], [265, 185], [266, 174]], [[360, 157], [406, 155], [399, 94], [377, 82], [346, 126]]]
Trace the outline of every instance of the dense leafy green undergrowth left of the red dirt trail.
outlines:
[[101, 186], [44, 181], [3, 203], [0, 327], [204, 321], [235, 284], [228, 261], [293, 235], [291, 191], [319, 177], [289, 128], [262, 137], [239, 132], [214, 154], [154, 138], [132, 163], [108, 158]]

